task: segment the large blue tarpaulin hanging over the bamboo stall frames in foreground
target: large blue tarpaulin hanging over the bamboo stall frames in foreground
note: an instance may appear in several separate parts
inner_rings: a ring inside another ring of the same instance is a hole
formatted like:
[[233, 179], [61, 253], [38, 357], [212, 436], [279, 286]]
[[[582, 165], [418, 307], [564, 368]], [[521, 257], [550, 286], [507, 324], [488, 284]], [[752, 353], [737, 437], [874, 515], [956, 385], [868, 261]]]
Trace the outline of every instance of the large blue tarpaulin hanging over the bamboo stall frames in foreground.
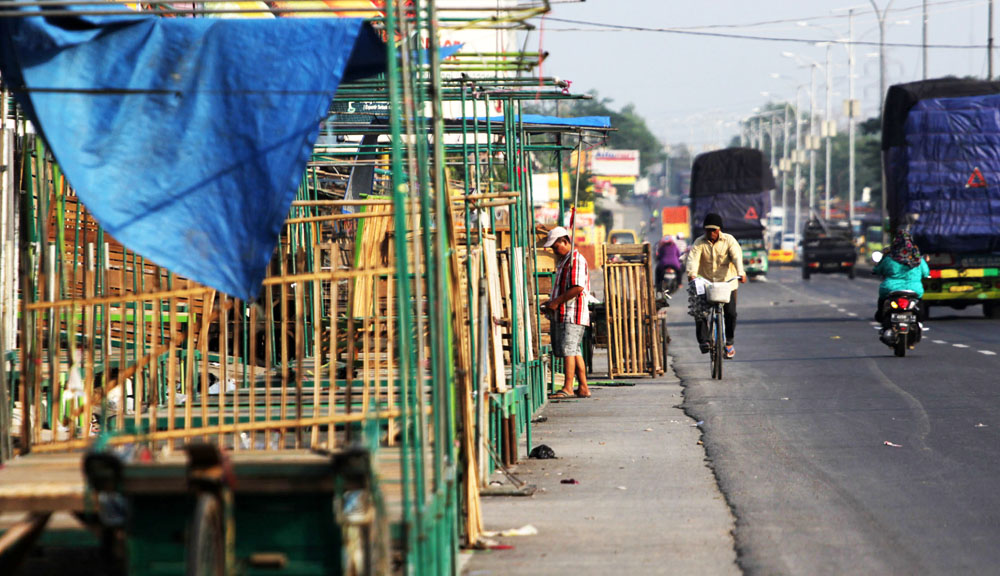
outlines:
[[251, 299], [352, 51], [349, 75], [385, 62], [370, 30], [355, 49], [360, 30], [359, 19], [6, 18], [0, 70], [105, 230]]

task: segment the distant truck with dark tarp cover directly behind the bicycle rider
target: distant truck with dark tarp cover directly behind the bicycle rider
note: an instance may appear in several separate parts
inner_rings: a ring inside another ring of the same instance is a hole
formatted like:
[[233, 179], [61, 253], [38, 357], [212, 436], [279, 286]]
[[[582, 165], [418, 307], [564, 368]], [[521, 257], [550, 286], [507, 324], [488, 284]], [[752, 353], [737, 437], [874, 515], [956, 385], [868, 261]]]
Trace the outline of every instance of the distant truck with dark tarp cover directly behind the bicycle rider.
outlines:
[[691, 169], [691, 229], [701, 230], [705, 215], [722, 216], [723, 232], [743, 248], [748, 276], [767, 274], [767, 215], [774, 174], [760, 150], [726, 148], [699, 154]]

